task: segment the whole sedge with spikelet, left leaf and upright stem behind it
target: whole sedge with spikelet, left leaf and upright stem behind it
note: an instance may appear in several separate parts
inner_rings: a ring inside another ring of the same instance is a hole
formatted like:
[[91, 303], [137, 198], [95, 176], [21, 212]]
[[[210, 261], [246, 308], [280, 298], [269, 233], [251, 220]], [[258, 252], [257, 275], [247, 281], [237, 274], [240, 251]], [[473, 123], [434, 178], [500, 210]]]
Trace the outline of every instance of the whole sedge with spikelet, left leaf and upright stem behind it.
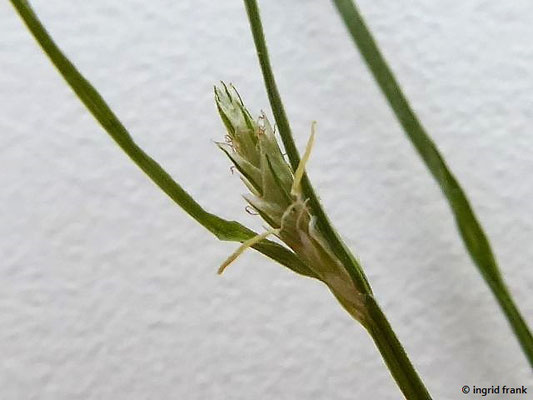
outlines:
[[[431, 398], [381, 311], [362, 268], [331, 227], [314, 194], [304, 171], [313, 135], [300, 160], [275, 87], [266, 45], [264, 40], [257, 40], [262, 37], [262, 30], [257, 29], [260, 24], [251, 24], [252, 32], [256, 44], [264, 46], [262, 54], [267, 56], [260, 58], [260, 62], [289, 162], [283, 157], [265, 116], [259, 121], [253, 120], [233, 89], [216, 90], [220, 115], [231, 139], [229, 147], [222, 144], [220, 147], [241, 171], [251, 191], [248, 201], [271, 227], [258, 235], [236, 221], [209, 213], [197, 203], [135, 143], [98, 91], [54, 43], [30, 4], [25, 0], [11, 0], [11, 3], [69, 86], [130, 159], [218, 239], [242, 243], [221, 266], [220, 272], [244, 249], [252, 247], [298, 274], [324, 282], [341, 305], [369, 332], [404, 396], [407, 399]], [[250, 18], [258, 17], [257, 5], [254, 2], [245, 4]], [[278, 236], [285, 245], [269, 240], [269, 235]]]

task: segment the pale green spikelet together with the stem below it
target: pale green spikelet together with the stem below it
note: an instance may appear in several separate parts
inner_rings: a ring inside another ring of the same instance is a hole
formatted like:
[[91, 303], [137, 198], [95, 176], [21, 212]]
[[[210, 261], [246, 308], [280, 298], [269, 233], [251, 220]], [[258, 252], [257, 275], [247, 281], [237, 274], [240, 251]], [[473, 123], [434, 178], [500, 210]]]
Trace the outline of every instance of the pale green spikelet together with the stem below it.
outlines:
[[[408, 399], [430, 399], [422, 380], [409, 361], [372, 293], [359, 263], [350, 256], [350, 266], [363, 280], [352, 279], [318, 225], [310, 198], [303, 191], [305, 164], [315, 137], [311, 128], [306, 150], [296, 169], [287, 162], [265, 114], [254, 120], [233, 87], [215, 88], [217, 107], [227, 130], [227, 140], [218, 143], [239, 171], [250, 194], [244, 198], [269, 225], [264, 233], [244, 242], [221, 265], [222, 273], [244, 250], [269, 235], [277, 236], [333, 293], [344, 309], [374, 339], [389, 370]], [[308, 181], [309, 182], [309, 181]]]

